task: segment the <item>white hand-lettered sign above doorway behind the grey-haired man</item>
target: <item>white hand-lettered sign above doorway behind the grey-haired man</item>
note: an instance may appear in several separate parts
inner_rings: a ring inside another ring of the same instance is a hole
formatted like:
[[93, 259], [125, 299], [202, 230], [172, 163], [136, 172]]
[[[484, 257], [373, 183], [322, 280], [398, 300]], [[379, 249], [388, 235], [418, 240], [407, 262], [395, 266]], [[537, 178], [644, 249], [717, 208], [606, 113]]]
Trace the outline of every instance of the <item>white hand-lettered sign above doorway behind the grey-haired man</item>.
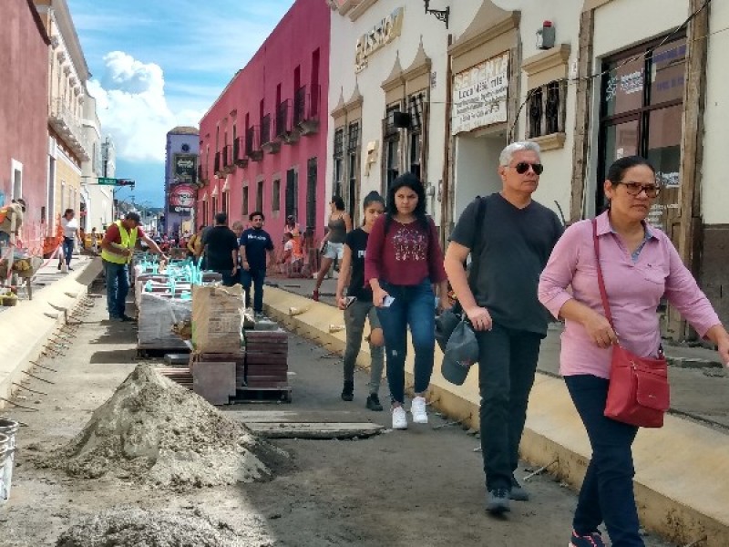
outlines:
[[453, 78], [453, 134], [507, 120], [508, 53]]

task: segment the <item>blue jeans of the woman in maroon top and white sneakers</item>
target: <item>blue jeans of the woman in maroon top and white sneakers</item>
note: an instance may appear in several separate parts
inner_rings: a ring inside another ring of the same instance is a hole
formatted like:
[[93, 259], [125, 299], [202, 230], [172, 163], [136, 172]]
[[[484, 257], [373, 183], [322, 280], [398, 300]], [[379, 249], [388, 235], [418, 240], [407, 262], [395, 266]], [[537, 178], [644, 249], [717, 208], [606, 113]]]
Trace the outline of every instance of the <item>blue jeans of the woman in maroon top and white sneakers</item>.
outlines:
[[412, 286], [382, 283], [382, 288], [395, 298], [390, 307], [377, 308], [377, 316], [385, 334], [387, 384], [393, 402], [405, 402], [405, 360], [407, 327], [416, 352], [415, 391], [424, 393], [433, 374], [436, 351], [436, 309], [433, 287], [426, 279]]

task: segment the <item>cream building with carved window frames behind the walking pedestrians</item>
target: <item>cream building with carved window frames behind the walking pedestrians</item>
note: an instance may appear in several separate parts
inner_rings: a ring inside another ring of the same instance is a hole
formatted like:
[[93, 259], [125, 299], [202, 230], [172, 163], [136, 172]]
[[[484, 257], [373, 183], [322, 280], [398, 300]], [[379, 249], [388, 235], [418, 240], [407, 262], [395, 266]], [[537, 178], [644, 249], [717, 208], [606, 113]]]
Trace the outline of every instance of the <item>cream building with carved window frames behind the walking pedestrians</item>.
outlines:
[[[359, 196], [402, 172], [426, 185], [444, 241], [498, 152], [541, 145], [535, 198], [565, 222], [604, 207], [613, 160], [652, 161], [667, 232], [729, 321], [729, 5], [706, 0], [341, 0], [332, 6], [328, 190]], [[618, 32], [617, 29], [620, 29]], [[689, 83], [691, 85], [689, 85]], [[665, 332], [690, 337], [666, 315]]]

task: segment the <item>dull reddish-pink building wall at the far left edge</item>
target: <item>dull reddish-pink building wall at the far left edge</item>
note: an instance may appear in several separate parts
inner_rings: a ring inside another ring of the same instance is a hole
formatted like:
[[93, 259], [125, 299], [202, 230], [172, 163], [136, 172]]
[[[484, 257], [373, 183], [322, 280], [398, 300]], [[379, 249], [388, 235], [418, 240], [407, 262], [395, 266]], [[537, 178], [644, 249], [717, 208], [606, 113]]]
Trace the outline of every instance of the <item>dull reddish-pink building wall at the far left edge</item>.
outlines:
[[30, 0], [3, 2], [0, 32], [0, 206], [25, 198], [23, 241], [43, 248], [48, 165], [48, 46]]

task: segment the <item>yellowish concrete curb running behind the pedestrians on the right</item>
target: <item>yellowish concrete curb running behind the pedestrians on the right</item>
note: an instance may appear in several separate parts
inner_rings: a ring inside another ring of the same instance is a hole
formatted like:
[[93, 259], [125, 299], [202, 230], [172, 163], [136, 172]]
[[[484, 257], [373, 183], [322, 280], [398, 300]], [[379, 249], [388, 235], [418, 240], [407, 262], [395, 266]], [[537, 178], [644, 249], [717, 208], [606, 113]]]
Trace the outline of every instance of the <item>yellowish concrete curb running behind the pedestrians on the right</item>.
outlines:
[[[329, 333], [329, 325], [344, 323], [333, 306], [267, 287], [266, 313], [297, 335], [327, 350], [344, 352], [344, 331]], [[290, 307], [305, 310], [289, 315]], [[463, 387], [440, 376], [442, 354], [428, 390], [433, 406], [469, 428], [478, 428], [477, 375]], [[357, 359], [369, 366], [366, 345]], [[406, 385], [412, 385], [412, 352], [406, 364]], [[662, 429], [642, 429], [635, 441], [635, 497], [642, 525], [671, 542], [687, 544], [706, 538], [704, 547], [729, 545], [729, 436], [683, 418], [666, 417]], [[587, 435], [564, 383], [538, 373], [529, 399], [521, 456], [577, 489], [590, 459]], [[474, 470], [475, 477], [480, 470]], [[570, 523], [565, 522], [565, 528]]]

